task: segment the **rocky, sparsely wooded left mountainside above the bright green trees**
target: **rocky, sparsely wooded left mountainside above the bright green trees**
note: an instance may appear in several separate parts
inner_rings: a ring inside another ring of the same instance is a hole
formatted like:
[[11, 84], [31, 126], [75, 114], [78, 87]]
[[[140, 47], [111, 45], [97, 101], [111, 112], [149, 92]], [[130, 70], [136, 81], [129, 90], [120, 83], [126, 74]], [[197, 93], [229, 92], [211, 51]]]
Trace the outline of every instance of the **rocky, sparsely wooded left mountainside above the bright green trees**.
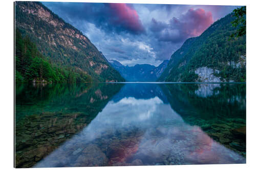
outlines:
[[50, 63], [83, 72], [93, 81], [124, 81], [86, 36], [39, 2], [15, 2], [15, 27]]

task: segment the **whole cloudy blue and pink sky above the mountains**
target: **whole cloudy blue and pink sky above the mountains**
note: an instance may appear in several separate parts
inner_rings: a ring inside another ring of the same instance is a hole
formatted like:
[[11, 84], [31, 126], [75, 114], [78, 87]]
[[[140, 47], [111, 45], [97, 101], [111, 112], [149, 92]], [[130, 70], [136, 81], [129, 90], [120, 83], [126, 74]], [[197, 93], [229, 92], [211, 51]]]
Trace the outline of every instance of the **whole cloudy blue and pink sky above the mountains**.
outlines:
[[42, 2], [108, 60], [158, 66], [238, 6]]

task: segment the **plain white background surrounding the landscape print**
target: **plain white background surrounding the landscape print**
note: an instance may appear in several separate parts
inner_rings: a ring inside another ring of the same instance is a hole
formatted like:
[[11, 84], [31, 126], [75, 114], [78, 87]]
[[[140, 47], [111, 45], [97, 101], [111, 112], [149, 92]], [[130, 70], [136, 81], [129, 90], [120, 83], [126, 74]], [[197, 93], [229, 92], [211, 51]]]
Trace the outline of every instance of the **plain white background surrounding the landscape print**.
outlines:
[[[28, 0], [26, 0], [28, 1]], [[72, 0], [52, 0], [54, 2], [104, 2], [104, 3], [137, 3], [137, 4], [195, 4], [195, 5], [246, 5], [247, 6], [247, 160], [246, 164], [218, 164], [218, 165], [168, 165], [168, 166], [118, 166], [118, 167], [86, 167], [86, 169], [256, 169], [255, 167], [255, 145], [256, 137], [254, 134], [256, 112], [255, 107], [255, 73], [256, 73], [256, 55], [255, 55], [255, 1], [232, 0], [232, 1], [203, 1], [203, 0], [90, 0], [90, 1], [72, 1]], [[51, 2], [51, 1], [49, 1]], [[1, 168], [13, 169], [13, 1], [1, 1]], [[42, 170], [49, 168], [40, 168]], [[59, 168], [56, 168], [59, 169]], [[84, 169], [84, 167], [65, 168], [65, 169]]]

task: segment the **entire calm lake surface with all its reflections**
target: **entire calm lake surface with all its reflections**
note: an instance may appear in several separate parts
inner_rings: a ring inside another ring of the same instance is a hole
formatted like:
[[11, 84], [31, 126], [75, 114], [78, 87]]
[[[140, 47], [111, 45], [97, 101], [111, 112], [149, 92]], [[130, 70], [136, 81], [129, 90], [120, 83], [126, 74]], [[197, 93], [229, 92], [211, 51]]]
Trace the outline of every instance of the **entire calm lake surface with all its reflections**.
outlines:
[[17, 84], [16, 167], [246, 163], [246, 84]]

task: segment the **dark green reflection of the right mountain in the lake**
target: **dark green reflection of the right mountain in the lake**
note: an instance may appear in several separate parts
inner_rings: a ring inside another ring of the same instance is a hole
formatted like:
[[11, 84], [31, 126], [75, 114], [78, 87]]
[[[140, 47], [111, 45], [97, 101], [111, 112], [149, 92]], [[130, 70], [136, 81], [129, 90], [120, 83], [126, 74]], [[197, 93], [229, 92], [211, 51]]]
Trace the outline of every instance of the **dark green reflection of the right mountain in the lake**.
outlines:
[[[207, 97], [199, 96], [198, 89], [206, 86], [214, 93], [206, 90]], [[246, 155], [245, 84], [168, 84], [162, 89], [187, 124], [201, 127], [226, 148]]]

